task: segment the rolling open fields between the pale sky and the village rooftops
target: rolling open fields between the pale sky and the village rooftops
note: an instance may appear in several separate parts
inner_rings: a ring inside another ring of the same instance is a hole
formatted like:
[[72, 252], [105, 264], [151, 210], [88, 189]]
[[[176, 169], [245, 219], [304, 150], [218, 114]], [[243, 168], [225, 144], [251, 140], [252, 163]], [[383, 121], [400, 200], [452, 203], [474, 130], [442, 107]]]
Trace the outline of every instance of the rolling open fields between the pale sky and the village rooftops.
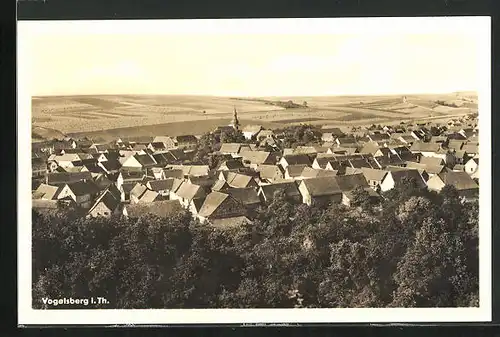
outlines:
[[[274, 103], [300, 107], [285, 109]], [[307, 102], [307, 106], [302, 106]], [[229, 123], [233, 109], [246, 124], [339, 126], [446, 120], [477, 112], [473, 93], [403, 96], [328, 96], [231, 98], [179, 95], [95, 95], [33, 97], [33, 140], [61, 134], [127, 135], [201, 134]]]

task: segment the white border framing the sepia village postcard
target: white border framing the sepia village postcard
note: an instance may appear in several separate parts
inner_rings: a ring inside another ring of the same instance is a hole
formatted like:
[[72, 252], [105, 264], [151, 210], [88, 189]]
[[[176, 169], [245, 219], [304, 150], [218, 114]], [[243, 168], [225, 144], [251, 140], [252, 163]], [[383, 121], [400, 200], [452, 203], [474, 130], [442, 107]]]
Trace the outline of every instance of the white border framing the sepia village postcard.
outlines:
[[[62, 28], [64, 27], [64, 28]], [[395, 28], [397, 27], [397, 28]], [[480, 307], [432, 309], [162, 309], [31, 308], [30, 39], [57, 34], [474, 34], [480, 42]], [[24, 21], [18, 24], [18, 323], [229, 324], [491, 321], [491, 37], [489, 17], [141, 21]]]

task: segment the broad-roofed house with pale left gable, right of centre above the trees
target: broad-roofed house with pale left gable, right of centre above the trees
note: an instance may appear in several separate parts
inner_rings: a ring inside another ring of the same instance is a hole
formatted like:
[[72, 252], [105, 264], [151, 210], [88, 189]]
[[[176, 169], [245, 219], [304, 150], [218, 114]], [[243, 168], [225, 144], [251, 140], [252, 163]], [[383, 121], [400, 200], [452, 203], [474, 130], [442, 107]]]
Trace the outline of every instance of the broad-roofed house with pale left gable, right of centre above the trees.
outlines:
[[342, 200], [342, 190], [336, 177], [304, 179], [299, 183], [298, 189], [302, 202], [309, 206], [313, 203], [340, 203]]

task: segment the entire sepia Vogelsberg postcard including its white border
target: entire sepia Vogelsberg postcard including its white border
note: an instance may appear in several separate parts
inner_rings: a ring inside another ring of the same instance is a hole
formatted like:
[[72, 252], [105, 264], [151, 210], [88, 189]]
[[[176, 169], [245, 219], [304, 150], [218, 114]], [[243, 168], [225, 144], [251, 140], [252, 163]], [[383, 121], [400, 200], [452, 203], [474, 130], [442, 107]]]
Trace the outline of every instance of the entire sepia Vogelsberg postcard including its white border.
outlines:
[[25, 323], [491, 319], [489, 18], [18, 43]]

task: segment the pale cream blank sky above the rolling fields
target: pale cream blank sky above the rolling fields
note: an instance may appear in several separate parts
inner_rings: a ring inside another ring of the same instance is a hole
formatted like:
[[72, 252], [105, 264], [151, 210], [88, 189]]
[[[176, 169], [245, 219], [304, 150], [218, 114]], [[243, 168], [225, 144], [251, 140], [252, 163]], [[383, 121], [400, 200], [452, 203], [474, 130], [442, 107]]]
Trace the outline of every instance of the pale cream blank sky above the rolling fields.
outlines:
[[479, 86], [480, 51], [473, 31], [392, 27], [379, 33], [368, 28], [206, 34], [200, 28], [176, 34], [74, 27], [64, 29], [61, 23], [26, 42], [32, 95], [321, 96], [444, 93]]

